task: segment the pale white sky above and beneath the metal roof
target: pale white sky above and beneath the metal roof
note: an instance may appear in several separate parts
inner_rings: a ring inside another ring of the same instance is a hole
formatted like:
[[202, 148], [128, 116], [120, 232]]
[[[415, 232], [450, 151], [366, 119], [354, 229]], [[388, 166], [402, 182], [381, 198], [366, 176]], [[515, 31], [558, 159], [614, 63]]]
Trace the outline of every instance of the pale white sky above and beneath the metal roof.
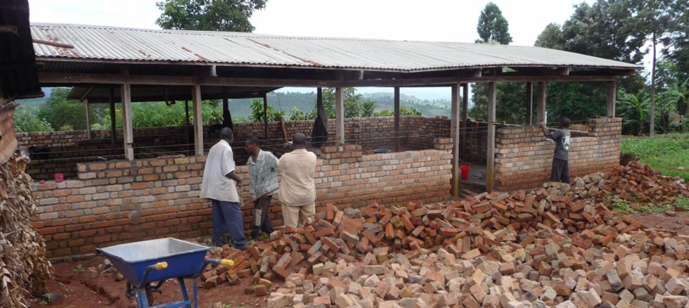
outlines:
[[[563, 23], [584, 0], [494, 0], [508, 20], [512, 45], [533, 46], [548, 23]], [[79, 23], [160, 29], [156, 0], [29, 0], [32, 23]], [[251, 23], [255, 33], [473, 42], [489, 1], [268, 0]], [[592, 3], [592, 0], [586, 0]], [[358, 88], [362, 93], [389, 88]], [[283, 88], [279, 91], [315, 91]], [[449, 99], [449, 88], [403, 88], [422, 99]]]

